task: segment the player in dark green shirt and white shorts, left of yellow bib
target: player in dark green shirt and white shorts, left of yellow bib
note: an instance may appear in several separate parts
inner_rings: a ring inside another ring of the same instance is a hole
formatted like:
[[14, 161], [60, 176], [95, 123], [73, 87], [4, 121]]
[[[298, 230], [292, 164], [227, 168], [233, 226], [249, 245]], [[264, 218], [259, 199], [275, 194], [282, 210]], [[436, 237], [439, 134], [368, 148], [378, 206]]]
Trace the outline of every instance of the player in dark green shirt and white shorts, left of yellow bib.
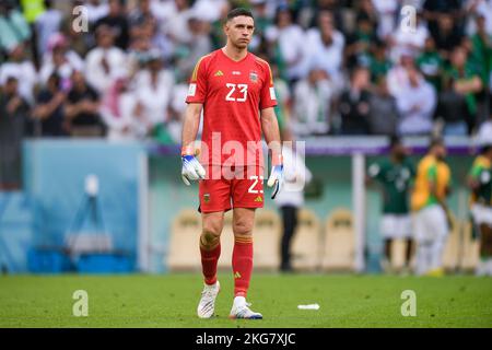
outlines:
[[368, 177], [379, 183], [383, 188], [380, 232], [385, 240], [385, 260], [383, 260], [385, 269], [389, 268], [391, 245], [397, 238], [407, 241], [406, 268], [410, 264], [412, 231], [408, 197], [415, 173], [406, 155], [407, 150], [401, 140], [393, 137], [389, 159], [368, 167]]

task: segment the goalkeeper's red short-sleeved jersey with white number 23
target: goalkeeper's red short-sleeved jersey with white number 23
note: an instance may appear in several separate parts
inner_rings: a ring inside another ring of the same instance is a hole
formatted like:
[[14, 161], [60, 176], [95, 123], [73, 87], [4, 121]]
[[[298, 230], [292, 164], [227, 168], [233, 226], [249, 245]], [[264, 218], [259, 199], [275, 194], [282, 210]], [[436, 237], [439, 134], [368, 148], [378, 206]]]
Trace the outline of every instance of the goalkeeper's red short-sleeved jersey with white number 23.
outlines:
[[248, 52], [234, 61], [222, 49], [203, 56], [186, 102], [203, 104], [203, 164], [262, 166], [260, 110], [277, 105], [265, 60]]

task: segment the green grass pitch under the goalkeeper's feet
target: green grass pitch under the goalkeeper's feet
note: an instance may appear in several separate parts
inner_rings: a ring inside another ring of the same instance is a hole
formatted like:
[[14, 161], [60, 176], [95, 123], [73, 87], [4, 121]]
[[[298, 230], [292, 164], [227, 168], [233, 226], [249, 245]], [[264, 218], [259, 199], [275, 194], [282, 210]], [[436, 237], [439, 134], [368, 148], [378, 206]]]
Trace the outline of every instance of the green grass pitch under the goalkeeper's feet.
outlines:
[[[199, 273], [4, 276], [0, 327], [492, 327], [492, 278], [256, 273], [248, 301], [262, 320], [229, 319], [233, 280], [219, 279], [216, 316], [198, 319]], [[87, 317], [72, 314], [75, 290], [89, 294]], [[405, 290], [414, 317], [401, 315]], [[297, 310], [312, 303], [320, 308]]]

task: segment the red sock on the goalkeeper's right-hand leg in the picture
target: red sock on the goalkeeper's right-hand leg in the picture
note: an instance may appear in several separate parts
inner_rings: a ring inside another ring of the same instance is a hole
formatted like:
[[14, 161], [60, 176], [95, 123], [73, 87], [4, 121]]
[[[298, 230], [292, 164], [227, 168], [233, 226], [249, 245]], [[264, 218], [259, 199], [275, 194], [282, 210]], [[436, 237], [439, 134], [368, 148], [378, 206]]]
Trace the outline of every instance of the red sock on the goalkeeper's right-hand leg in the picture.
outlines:
[[234, 296], [248, 292], [253, 271], [253, 237], [236, 237], [233, 250]]

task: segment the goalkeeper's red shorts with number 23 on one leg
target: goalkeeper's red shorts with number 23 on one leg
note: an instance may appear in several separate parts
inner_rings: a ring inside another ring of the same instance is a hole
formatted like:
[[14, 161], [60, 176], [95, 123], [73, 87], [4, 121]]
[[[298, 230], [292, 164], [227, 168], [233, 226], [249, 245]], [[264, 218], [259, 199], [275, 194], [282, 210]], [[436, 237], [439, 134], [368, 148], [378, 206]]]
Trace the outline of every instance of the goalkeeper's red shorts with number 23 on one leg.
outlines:
[[263, 167], [209, 165], [199, 183], [200, 212], [263, 207]]

